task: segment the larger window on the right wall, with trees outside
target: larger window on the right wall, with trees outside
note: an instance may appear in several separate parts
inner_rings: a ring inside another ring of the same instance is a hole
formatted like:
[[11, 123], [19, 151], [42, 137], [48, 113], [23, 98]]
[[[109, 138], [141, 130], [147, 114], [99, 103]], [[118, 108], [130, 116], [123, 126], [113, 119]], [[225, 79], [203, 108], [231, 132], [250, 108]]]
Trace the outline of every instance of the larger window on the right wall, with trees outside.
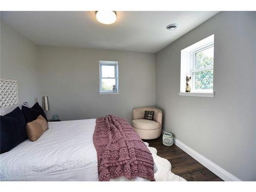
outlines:
[[[191, 77], [186, 86], [186, 76]], [[181, 50], [180, 92], [213, 93], [214, 35]], [[187, 90], [186, 90], [187, 88]]]

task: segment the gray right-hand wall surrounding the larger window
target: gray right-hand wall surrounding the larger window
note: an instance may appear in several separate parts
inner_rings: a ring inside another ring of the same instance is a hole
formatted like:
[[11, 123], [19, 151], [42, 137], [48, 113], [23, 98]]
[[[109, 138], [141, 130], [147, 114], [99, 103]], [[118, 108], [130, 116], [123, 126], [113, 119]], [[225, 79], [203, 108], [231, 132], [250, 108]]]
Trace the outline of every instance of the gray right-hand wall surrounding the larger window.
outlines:
[[[214, 98], [179, 96], [180, 51], [215, 34]], [[241, 180], [256, 180], [256, 12], [221, 12], [156, 56], [163, 129]]]

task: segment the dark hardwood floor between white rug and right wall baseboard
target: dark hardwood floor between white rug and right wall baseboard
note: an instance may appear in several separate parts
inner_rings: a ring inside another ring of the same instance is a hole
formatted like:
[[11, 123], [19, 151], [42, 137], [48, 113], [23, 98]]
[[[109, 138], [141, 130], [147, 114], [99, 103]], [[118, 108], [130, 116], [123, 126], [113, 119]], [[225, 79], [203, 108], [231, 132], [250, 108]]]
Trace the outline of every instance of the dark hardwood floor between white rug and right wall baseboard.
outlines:
[[183, 177], [187, 181], [223, 181], [178, 146], [163, 145], [162, 137], [144, 141], [157, 149], [158, 156], [167, 159], [172, 164], [174, 174]]

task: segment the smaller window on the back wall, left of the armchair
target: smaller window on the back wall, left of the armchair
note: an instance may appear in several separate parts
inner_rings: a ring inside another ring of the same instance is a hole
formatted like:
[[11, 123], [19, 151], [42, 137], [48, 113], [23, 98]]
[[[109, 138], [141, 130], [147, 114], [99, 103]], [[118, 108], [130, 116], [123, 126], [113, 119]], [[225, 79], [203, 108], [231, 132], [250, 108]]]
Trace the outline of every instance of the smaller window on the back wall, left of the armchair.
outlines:
[[99, 93], [118, 93], [118, 61], [99, 61]]

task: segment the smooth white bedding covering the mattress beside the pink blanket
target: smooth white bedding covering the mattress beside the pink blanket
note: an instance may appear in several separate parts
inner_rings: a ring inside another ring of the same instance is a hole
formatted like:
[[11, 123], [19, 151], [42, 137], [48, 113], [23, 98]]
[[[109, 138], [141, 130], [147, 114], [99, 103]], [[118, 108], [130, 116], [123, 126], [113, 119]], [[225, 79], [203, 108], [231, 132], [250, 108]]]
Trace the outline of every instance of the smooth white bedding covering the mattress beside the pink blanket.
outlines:
[[49, 122], [37, 141], [26, 140], [0, 155], [0, 180], [98, 181], [95, 124], [96, 119]]

